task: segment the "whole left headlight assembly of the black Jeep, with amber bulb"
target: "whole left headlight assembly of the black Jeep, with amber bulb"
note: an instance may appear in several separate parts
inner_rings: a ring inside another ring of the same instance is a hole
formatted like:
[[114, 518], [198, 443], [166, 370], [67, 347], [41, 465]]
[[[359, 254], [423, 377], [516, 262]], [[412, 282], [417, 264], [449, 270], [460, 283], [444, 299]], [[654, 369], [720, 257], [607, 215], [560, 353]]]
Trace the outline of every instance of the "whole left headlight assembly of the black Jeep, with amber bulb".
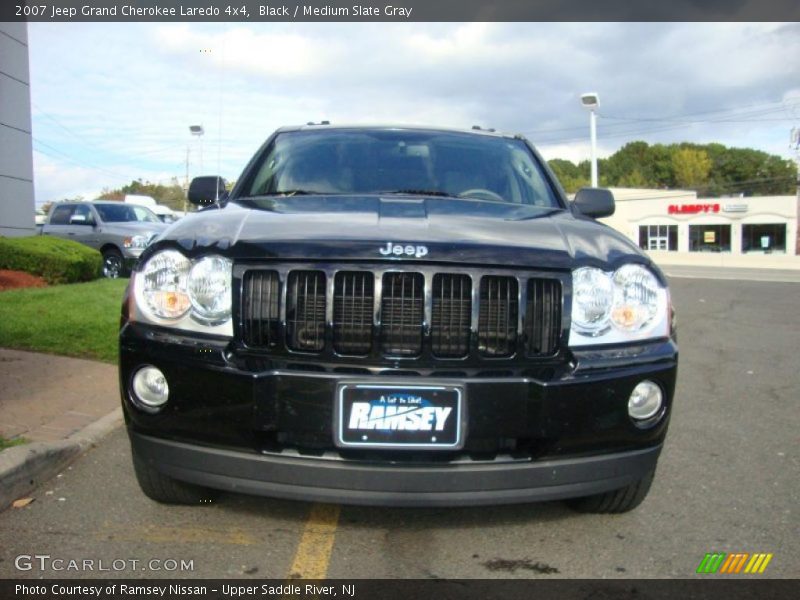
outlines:
[[232, 276], [233, 263], [221, 256], [191, 261], [177, 250], [158, 252], [133, 276], [131, 318], [231, 336]]

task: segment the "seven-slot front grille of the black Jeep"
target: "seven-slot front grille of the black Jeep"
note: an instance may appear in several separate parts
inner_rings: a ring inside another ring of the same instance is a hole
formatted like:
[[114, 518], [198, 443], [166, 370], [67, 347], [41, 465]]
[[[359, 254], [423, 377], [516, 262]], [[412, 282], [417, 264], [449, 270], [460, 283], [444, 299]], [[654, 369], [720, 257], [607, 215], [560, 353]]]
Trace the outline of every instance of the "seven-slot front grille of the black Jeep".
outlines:
[[[241, 337], [253, 350], [463, 359], [558, 352], [561, 281], [409, 265], [248, 268]], [[522, 308], [520, 308], [522, 307]]]

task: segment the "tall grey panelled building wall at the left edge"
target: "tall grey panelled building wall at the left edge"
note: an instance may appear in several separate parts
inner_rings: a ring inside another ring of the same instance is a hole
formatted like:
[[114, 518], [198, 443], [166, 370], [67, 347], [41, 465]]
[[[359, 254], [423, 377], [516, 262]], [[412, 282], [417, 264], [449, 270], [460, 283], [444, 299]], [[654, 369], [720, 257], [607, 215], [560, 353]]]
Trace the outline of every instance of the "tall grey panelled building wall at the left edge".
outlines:
[[0, 23], [0, 235], [36, 233], [25, 23]]

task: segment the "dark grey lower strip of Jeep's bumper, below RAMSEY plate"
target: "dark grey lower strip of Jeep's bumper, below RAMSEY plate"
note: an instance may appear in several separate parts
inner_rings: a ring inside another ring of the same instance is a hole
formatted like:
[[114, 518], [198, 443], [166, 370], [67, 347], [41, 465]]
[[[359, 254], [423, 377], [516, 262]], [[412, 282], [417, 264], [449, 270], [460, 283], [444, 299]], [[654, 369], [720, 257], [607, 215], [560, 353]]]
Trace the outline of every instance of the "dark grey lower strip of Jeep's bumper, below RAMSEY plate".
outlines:
[[131, 447], [159, 471], [197, 485], [291, 500], [382, 506], [471, 506], [560, 500], [629, 485], [654, 469], [661, 446], [603, 456], [401, 466], [245, 452], [135, 431]]

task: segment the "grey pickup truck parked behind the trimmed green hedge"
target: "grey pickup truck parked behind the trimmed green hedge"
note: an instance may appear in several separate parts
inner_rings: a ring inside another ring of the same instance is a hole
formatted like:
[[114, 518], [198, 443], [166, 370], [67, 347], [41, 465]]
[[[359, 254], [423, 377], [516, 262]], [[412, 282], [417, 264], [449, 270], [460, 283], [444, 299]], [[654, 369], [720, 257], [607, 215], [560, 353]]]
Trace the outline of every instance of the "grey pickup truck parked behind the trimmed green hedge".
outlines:
[[50, 208], [42, 235], [74, 240], [99, 250], [103, 275], [127, 274], [150, 241], [167, 229], [153, 212], [113, 201], [60, 202]]

